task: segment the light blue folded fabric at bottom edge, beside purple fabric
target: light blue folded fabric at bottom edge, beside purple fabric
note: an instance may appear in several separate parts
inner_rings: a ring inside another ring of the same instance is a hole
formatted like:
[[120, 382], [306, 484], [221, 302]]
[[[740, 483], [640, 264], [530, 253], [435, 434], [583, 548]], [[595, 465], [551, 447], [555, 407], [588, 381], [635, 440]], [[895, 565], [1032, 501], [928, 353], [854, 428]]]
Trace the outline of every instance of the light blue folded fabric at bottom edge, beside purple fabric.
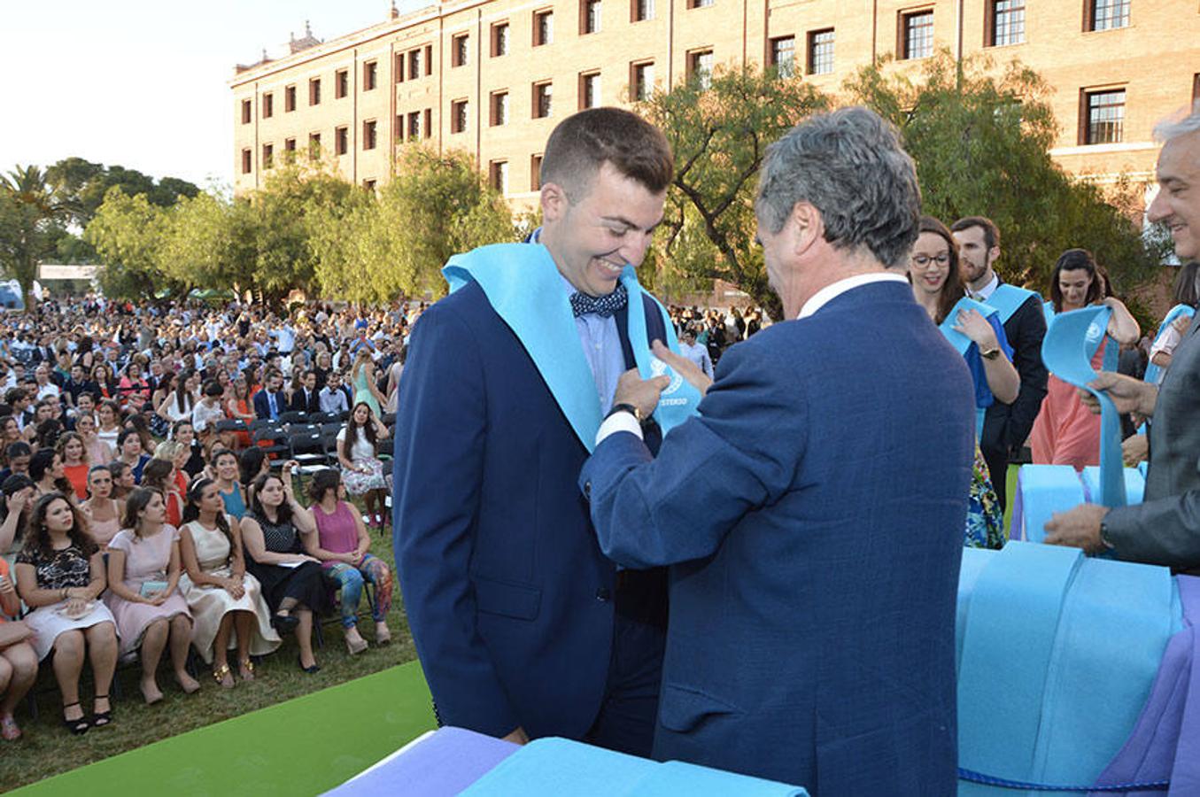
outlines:
[[679, 761], [659, 763], [581, 742], [530, 742], [463, 797], [805, 797], [797, 786]]

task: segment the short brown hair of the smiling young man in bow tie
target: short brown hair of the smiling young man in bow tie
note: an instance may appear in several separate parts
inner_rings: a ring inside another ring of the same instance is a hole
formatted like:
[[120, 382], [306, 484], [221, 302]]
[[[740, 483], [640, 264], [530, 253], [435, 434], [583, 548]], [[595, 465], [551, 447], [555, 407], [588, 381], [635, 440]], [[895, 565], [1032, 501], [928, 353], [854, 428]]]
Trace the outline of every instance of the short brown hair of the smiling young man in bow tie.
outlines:
[[568, 199], [578, 202], [605, 161], [653, 193], [666, 191], [674, 175], [662, 131], [629, 110], [589, 108], [568, 116], [550, 134], [541, 181], [562, 186]]

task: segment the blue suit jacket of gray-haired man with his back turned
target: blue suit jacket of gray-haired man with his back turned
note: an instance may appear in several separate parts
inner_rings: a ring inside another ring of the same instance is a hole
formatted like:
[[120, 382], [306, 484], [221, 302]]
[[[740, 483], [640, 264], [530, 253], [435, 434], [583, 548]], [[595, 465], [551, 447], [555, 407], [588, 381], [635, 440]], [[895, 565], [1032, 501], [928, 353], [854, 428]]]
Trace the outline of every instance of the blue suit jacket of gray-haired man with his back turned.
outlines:
[[904, 283], [721, 358], [658, 459], [583, 469], [601, 549], [672, 564], [654, 755], [814, 795], [953, 795], [971, 378]]

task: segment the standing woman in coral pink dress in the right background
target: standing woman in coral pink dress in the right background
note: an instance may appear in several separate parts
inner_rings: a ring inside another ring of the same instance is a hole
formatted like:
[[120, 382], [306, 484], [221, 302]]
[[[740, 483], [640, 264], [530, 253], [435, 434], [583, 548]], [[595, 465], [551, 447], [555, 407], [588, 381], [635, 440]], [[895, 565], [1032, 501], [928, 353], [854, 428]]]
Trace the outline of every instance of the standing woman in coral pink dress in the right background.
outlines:
[[[1112, 311], [1108, 335], [1122, 346], [1135, 343], [1141, 336], [1138, 322], [1120, 299], [1105, 295], [1106, 287], [1108, 281], [1087, 250], [1063, 252], [1050, 275], [1050, 299], [1056, 313], [1106, 305]], [[1108, 337], [1100, 342], [1092, 356], [1092, 368], [1100, 370], [1105, 347], [1112, 344]], [[1034, 465], [1069, 465], [1076, 471], [1099, 465], [1100, 417], [1084, 406], [1074, 385], [1051, 373], [1030, 447]]]

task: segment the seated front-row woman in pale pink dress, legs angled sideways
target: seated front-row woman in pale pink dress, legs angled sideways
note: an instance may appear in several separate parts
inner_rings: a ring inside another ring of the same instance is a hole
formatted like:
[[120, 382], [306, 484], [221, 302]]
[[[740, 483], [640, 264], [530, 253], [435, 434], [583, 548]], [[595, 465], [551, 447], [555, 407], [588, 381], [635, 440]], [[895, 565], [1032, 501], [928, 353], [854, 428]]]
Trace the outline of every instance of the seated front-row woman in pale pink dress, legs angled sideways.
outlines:
[[108, 604], [121, 637], [121, 657], [142, 648], [142, 696], [162, 700], [155, 677], [162, 652], [170, 643], [175, 681], [191, 694], [200, 688], [190, 675], [192, 613], [180, 594], [182, 573], [179, 532], [167, 523], [167, 504], [157, 490], [139, 487], [125, 502], [125, 528], [108, 544]]

